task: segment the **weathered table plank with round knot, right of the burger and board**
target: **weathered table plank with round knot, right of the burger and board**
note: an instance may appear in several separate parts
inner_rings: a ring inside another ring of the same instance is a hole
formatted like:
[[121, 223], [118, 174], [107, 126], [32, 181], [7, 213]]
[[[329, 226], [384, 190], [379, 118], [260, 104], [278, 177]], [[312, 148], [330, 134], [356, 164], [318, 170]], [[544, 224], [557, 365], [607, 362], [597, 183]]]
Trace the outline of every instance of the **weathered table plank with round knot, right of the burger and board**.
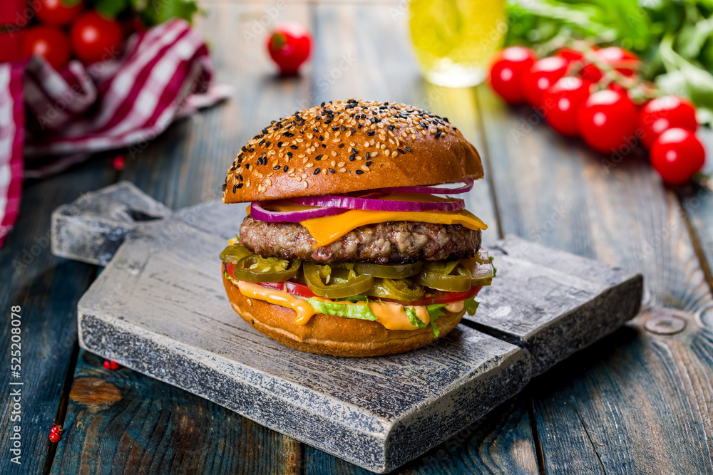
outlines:
[[526, 108], [485, 87], [478, 99], [503, 231], [640, 271], [647, 287], [630, 328], [533, 382], [545, 469], [712, 471], [713, 299], [676, 197], [640, 152], [605, 167], [528, 126]]

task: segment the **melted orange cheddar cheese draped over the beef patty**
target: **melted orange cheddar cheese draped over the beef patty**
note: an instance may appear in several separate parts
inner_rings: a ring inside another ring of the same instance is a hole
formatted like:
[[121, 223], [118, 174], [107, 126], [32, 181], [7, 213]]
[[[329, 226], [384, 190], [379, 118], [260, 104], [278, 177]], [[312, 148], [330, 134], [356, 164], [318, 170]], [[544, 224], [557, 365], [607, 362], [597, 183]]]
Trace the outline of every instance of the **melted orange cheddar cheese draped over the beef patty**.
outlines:
[[[431, 194], [389, 194], [381, 199], [393, 201], [419, 201], [419, 202], [442, 202], [445, 199], [434, 197]], [[277, 202], [270, 204], [270, 209], [279, 212], [302, 211], [314, 207], [302, 206], [287, 202]], [[352, 229], [366, 224], [385, 223], [387, 221], [418, 221], [435, 224], [462, 224], [468, 229], [488, 229], [488, 226], [475, 214], [461, 209], [454, 212], [393, 212], [393, 211], [367, 211], [364, 209], [352, 209], [337, 216], [326, 216], [324, 218], [307, 219], [301, 221], [309, 234], [312, 235], [316, 244], [312, 248], [327, 246], [337, 239], [347, 234]]]

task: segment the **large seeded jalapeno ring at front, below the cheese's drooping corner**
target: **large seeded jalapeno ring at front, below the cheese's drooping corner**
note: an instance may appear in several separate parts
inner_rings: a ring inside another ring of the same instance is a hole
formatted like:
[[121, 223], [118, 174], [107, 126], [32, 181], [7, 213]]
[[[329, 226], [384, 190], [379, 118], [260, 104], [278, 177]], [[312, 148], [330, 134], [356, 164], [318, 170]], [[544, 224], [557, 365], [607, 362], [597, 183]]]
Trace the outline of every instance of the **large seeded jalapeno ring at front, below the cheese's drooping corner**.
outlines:
[[[351, 267], [351, 268], [350, 268]], [[352, 264], [304, 263], [307, 287], [320, 297], [343, 298], [368, 291], [374, 278], [354, 271]]]

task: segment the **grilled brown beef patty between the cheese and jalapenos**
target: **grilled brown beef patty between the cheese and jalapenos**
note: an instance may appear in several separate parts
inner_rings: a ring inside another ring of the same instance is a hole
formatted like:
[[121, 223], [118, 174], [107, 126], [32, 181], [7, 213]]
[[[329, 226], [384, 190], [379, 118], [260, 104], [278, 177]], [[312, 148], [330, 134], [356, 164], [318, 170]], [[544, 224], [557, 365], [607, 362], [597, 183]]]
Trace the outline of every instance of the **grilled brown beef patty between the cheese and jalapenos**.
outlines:
[[349, 231], [327, 246], [315, 241], [298, 223], [268, 223], [247, 216], [240, 239], [265, 257], [302, 261], [406, 263], [471, 257], [481, 246], [481, 231], [461, 224], [389, 221]]

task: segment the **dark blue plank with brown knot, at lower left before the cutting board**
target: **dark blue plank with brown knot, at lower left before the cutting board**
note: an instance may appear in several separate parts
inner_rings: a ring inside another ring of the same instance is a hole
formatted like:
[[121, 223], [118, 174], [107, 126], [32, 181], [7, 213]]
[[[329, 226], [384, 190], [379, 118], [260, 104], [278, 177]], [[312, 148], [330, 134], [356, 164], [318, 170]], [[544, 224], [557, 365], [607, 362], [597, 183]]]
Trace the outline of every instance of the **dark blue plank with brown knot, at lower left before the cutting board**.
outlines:
[[299, 443], [81, 350], [53, 474], [298, 474]]

